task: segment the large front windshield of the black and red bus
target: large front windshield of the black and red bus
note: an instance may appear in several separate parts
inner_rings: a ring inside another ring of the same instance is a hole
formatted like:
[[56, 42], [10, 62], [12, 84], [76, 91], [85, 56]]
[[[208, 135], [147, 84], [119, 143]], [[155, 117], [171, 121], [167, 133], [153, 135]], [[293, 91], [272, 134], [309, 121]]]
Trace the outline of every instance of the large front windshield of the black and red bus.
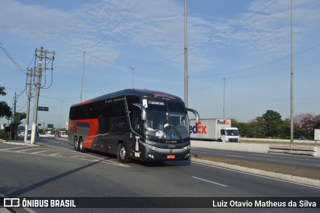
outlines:
[[182, 102], [148, 100], [145, 106], [145, 135], [156, 141], [183, 140], [189, 137], [189, 123]]

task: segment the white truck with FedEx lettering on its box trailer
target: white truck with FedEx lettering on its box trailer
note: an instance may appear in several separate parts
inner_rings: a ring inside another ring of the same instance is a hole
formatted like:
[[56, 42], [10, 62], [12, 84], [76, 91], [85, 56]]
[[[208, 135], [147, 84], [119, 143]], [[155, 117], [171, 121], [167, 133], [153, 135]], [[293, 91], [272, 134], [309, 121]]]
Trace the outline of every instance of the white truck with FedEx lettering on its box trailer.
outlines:
[[190, 119], [189, 122], [190, 139], [240, 142], [238, 128], [231, 127], [231, 119], [199, 119], [197, 123]]

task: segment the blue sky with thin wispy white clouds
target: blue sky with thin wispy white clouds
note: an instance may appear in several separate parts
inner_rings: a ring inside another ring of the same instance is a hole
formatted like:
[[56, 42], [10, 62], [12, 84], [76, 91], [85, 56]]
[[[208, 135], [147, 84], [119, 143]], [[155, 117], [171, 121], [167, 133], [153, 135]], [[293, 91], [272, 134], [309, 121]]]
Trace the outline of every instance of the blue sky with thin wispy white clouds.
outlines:
[[[224, 111], [247, 122], [269, 109], [290, 117], [290, 11], [290, 0], [188, 0], [187, 106], [200, 118]], [[294, 115], [320, 114], [319, 19], [319, 0], [292, 0]], [[17, 112], [26, 111], [35, 49], [54, 51], [45, 61], [53, 70], [42, 72], [41, 126], [63, 128], [81, 87], [84, 101], [133, 79], [133, 88], [184, 100], [184, 0], [0, 0], [0, 29], [0, 101], [12, 106], [16, 93]]]

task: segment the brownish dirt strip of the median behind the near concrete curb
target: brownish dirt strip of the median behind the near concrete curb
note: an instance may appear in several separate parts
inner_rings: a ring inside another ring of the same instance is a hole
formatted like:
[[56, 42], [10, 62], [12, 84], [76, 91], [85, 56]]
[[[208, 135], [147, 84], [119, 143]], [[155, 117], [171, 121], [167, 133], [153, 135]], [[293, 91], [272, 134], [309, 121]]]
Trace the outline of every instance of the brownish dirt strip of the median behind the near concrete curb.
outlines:
[[232, 165], [239, 165], [248, 168], [256, 168], [264, 171], [271, 171], [275, 173], [281, 174], [289, 174], [293, 176], [299, 177], [306, 177], [310, 179], [318, 179], [320, 180], [320, 171], [310, 170], [310, 169], [303, 169], [303, 168], [296, 168], [290, 166], [282, 166], [282, 165], [273, 165], [273, 164], [265, 164], [265, 163], [257, 163], [252, 161], [245, 161], [245, 160], [236, 160], [227, 157], [213, 157], [213, 156], [205, 156], [199, 154], [190, 154], [191, 158], [197, 159], [205, 159], [211, 160], [215, 162], [223, 162]]

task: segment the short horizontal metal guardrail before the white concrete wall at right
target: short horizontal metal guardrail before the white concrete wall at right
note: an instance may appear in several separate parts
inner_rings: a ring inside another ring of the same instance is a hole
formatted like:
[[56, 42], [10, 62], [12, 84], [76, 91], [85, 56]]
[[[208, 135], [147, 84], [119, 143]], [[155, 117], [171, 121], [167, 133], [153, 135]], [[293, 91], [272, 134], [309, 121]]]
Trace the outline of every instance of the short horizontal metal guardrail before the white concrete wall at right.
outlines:
[[304, 154], [304, 155], [315, 156], [316, 147], [270, 145], [268, 152], [287, 153], [287, 154]]

